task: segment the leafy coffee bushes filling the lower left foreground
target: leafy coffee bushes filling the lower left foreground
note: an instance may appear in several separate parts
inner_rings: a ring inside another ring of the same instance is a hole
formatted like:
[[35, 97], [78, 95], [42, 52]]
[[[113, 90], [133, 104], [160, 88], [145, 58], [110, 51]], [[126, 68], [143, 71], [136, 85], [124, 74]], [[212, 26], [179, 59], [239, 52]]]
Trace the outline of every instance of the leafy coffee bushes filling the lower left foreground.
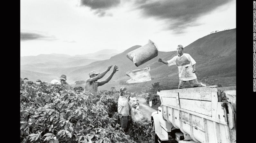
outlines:
[[[132, 123], [130, 132], [121, 129], [120, 115], [116, 113], [118, 100], [115, 95], [118, 93], [102, 94], [100, 99], [93, 99], [93, 95], [83, 93], [81, 87], [70, 91], [60, 84], [37, 84], [22, 78], [20, 84], [22, 143], [136, 143], [151, 140], [152, 127], [148, 120]], [[142, 133], [144, 137], [140, 137]]]

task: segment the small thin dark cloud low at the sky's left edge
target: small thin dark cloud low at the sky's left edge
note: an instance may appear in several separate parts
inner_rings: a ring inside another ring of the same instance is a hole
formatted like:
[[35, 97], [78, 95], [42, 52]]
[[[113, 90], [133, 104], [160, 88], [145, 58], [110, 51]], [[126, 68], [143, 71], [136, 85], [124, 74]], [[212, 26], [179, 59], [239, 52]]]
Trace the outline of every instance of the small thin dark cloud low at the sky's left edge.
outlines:
[[56, 40], [54, 36], [44, 36], [38, 33], [33, 32], [21, 32], [20, 34], [21, 41], [27, 41], [27, 40]]

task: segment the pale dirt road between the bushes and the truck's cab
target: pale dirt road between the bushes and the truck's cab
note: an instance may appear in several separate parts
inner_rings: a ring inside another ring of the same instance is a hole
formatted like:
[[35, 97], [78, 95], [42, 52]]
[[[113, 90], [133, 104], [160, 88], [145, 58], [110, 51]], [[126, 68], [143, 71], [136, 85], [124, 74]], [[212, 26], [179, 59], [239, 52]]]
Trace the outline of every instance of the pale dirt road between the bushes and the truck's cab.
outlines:
[[157, 110], [149, 107], [144, 98], [137, 98], [139, 100], [139, 111], [142, 112], [143, 116], [151, 121], [151, 114]]

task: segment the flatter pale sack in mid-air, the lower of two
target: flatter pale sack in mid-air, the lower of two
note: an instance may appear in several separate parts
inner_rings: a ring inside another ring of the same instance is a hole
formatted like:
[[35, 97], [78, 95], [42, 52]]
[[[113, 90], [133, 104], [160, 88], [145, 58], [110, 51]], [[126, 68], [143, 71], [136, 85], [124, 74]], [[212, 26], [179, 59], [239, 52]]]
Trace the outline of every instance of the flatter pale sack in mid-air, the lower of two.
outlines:
[[150, 67], [135, 69], [135, 70], [126, 72], [126, 75], [131, 78], [127, 80], [126, 83], [142, 83], [142, 82], [151, 81], [151, 76], [149, 71], [150, 71]]

